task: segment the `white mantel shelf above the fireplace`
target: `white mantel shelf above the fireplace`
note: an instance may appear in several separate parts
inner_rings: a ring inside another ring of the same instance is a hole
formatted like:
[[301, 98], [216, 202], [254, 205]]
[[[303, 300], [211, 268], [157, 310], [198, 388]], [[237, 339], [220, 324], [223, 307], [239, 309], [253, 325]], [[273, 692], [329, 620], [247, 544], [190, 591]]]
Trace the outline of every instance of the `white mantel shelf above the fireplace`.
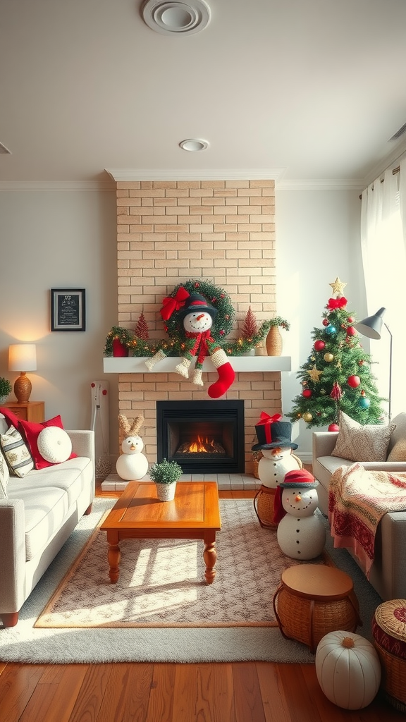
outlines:
[[[230, 363], [236, 372], [253, 371], [290, 371], [292, 368], [290, 356], [229, 356]], [[105, 357], [103, 358], [104, 373], [173, 373], [175, 367], [181, 362], [176, 356], [168, 356], [150, 372], [144, 356]], [[215, 371], [210, 358], [204, 359], [203, 370]]]

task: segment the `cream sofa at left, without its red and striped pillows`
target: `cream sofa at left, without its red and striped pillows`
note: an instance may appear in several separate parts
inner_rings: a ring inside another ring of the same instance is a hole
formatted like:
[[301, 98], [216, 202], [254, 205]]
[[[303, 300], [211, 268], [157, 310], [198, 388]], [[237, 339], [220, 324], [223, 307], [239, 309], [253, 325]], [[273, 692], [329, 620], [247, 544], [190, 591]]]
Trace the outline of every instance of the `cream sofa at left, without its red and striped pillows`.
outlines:
[[68, 431], [77, 458], [22, 479], [12, 476], [0, 500], [0, 619], [14, 627], [43, 573], [95, 496], [94, 432]]

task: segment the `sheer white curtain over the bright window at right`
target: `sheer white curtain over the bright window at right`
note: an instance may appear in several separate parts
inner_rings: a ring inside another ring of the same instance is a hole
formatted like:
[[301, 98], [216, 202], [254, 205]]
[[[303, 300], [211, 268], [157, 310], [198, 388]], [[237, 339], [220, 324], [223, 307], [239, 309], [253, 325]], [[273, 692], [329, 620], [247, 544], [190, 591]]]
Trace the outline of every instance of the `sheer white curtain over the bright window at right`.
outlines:
[[[371, 340], [372, 373], [381, 396], [389, 396], [389, 352], [392, 334], [392, 418], [406, 411], [406, 159], [400, 170], [388, 168], [362, 194], [361, 249], [367, 316], [384, 306], [381, 339]], [[390, 333], [389, 333], [389, 331]], [[365, 339], [366, 340], [366, 339]], [[360, 339], [364, 347], [362, 336]], [[386, 404], [386, 411], [388, 405]]]

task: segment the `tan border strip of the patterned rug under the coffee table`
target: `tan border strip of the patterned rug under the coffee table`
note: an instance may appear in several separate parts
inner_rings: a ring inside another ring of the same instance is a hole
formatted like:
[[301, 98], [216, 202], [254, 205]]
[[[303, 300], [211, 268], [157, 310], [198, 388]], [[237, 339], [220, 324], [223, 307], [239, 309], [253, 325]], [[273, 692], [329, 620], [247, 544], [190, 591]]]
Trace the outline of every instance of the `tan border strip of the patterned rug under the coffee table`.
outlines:
[[[251, 500], [248, 499], [239, 499], [239, 501], [249, 502]], [[221, 503], [235, 503], [236, 499], [221, 499]], [[46, 605], [43, 607], [42, 611], [38, 615], [38, 618], [35, 620], [35, 623], [33, 627], [38, 629], [186, 629], [186, 628], [196, 628], [196, 629], [216, 629], [216, 628], [233, 628], [233, 627], [259, 627], [259, 628], [277, 628], [278, 623], [276, 620], [274, 621], [236, 621], [236, 622], [204, 622], [203, 620], [200, 622], [187, 622], [187, 623], [176, 623], [176, 622], [137, 622], [137, 621], [118, 621], [118, 622], [106, 622], [105, 624], [96, 624], [92, 625], [90, 623], [84, 623], [80, 622], [77, 625], [72, 625], [72, 622], [70, 623], [58, 623], [47, 620], [47, 615], [52, 614], [53, 607], [59, 600], [59, 597], [61, 596], [62, 591], [64, 588], [66, 588], [66, 585], [69, 584], [69, 580], [71, 580], [75, 573], [77, 572], [80, 564], [82, 563], [82, 560], [87, 554], [87, 550], [89, 547], [94, 543], [96, 536], [100, 534], [100, 526], [103, 524], [103, 521], [110, 513], [111, 509], [108, 509], [103, 513], [103, 516], [101, 516], [100, 520], [95, 526], [95, 529], [93, 529], [92, 534], [90, 534], [89, 539], [87, 539], [87, 542], [85, 543], [84, 547], [82, 548], [81, 552], [79, 552], [76, 559], [73, 560], [72, 564], [70, 565], [69, 569], [66, 571], [64, 577], [59, 582], [58, 586], [56, 587], [55, 591], [51, 595], [51, 598], [48, 600]], [[193, 540], [191, 540], [193, 541]], [[276, 539], [275, 539], [276, 542]], [[198, 543], [198, 540], [195, 540], [195, 543]], [[277, 542], [276, 542], [277, 543]], [[300, 562], [298, 560], [290, 560], [290, 564], [306, 564], [306, 563], [321, 563], [327, 566], [335, 566], [334, 562], [332, 561], [331, 557], [329, 557], [329, 554], [324, 550], [322, 554], [317, 557], [315, 560], [309, 560], [308, 562]], [[272, 604], [272, 597], [270, 597], [270, 604]]]

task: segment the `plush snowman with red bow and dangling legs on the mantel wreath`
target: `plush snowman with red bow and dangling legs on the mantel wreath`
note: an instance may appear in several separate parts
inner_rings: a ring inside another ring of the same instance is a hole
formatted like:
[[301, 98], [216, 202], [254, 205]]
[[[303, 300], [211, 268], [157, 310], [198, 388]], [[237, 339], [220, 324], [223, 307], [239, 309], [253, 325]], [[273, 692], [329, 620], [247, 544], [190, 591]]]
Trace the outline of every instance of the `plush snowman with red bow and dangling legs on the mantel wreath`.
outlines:
[[[217, 369], [218, 379], [209, 386], [207, 393], [212, 399], [223, 396], [236, 378], [236, 374], [224, 349], [212, 338], [210, 333], [217, 308], [207, 303], [204, 296], [199, 293], [189, 294], [186, 288], [181, 286], [175, 297], [168, 297], [164, 300], [160, 313], [164, 321], [167, 321], [172, 313], [177, 313], [179, 321], [183, 323], [186, 351], [181, 362], [175, 367], [176, 373], [184, 378], [189, 378], [191, 361], [196, 358], [193, 383], [196, 386], [204, 386], [202, 366], [204, 359], [210, 356]], [[163, 349], [160, 349], [155, 356], [145, 361], [145, 365], [151, 371], [155, 364], [167, 355]]]

